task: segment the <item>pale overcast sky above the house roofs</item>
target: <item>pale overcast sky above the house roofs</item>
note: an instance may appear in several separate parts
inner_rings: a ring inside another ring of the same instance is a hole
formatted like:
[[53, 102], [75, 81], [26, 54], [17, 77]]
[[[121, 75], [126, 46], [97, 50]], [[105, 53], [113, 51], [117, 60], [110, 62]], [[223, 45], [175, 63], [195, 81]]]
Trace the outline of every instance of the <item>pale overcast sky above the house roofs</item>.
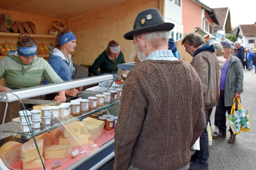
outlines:
[[229, 7], [232, 28], [256, 22], [255, 0], [201, 0], [200, 2], [210, 8]]

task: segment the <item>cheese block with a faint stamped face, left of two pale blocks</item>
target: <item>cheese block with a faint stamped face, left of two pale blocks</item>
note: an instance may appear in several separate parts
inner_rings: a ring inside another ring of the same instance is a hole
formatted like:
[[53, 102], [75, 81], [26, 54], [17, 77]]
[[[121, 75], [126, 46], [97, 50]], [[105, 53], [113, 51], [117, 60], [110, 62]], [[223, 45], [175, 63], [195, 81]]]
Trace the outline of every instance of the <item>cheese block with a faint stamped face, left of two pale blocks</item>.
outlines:
[[64, 137], [80, 136], [81, 125], [80, 121], [74, 121], [64, 125], [63, 135]]

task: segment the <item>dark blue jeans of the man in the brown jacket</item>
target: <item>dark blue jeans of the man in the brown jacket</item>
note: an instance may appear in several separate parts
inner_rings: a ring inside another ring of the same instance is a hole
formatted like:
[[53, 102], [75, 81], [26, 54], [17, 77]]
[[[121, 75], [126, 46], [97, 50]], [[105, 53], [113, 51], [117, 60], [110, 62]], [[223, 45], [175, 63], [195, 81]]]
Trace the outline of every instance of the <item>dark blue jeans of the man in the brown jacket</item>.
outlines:
[[197, 159], [204, 165], [208, 164], [208, 158], [209, 158], [209, 141], [208, 141], [208, 132], [207, 132], [207, 125], [210, 119], [212, 113], [212, 108], [205, 109], [205, 127], [200, 135], [200, 150], [197, 150], [195, 154], [197, 154]]

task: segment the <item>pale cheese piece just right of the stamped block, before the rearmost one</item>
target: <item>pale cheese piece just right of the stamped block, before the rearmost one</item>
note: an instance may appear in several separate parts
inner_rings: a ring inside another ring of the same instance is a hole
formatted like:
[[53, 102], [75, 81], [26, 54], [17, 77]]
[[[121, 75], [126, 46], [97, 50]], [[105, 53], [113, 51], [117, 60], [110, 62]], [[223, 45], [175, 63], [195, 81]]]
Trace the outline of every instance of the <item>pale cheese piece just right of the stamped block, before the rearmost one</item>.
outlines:
[[81, 132], [86, 134], [87, 131], [91, 135], [91, 140], [99, 137], [99, 126], [90, 122], [81, 122]]

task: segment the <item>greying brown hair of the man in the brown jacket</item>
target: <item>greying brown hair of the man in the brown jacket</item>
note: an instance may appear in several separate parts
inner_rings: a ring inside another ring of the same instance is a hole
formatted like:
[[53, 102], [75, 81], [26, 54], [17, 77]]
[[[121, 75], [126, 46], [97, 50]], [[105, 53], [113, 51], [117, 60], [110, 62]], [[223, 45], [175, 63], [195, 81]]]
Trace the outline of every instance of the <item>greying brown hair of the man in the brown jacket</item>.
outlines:
[[190, 46], [193, 45], [194, 47], [198, 47], [204, 44], [204, 38], [196, 33], [188, 33], [182, 40], [181, 44], [184, 45], [185, 42], [187, 42]]

